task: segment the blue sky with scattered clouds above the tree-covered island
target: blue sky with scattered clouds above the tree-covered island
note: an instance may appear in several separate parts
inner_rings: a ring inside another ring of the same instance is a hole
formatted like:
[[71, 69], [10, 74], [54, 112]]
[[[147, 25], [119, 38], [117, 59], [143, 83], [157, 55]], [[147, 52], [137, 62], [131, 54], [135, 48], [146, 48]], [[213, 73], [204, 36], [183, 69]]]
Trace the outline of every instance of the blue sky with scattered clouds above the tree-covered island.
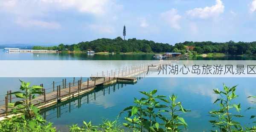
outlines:
[[0, 44], [256, 41], [256, 0], [0, 0]]

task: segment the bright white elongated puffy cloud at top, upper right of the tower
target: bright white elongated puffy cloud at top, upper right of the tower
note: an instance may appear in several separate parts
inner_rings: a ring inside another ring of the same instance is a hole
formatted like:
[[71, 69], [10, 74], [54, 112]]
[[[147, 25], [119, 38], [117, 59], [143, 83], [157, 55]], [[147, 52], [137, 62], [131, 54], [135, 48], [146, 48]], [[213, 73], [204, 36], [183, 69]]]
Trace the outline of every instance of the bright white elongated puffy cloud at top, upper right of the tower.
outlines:
[[207, 19], [210, 17], [217, 17], [224, 12], [224, 5], [221, 0], [216, 0], [216, 4], [211, 7], [194, 8], [186, 13], [191, 17], [198, 17], [201, 19]]

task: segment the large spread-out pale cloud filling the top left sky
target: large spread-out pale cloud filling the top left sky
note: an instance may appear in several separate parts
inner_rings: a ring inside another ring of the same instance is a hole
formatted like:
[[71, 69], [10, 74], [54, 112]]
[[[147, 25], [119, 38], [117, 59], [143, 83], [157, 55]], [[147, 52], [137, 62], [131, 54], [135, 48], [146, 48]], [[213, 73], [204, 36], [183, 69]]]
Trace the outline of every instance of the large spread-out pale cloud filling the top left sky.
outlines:
[[8, 14], [18, 25], [52, 29], [61, 27], [55, 20], [49, 20], [49, 16], [58, 11], [72, 10], [105, 17], [105, 14], [119, 8], [122, 6], [113, 0], [0, 0], [0, 13]]

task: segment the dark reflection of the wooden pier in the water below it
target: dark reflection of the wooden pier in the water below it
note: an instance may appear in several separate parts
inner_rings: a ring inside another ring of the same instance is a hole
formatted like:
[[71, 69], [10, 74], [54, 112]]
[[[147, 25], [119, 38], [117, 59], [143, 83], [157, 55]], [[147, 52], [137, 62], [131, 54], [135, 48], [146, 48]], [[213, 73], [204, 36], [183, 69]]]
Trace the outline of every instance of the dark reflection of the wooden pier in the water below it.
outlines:
[[[138, 78], [141, 79], [141, 78]], [[133, 84], [112, 84], [109, 86], [99, 86], [96, 87], [93, 91], [80, 95], [78, 97], [71, 98], [67, 101], [60, 102], [55, 104], [52, 107], [41, 110], [41, 115], [47, 121], [51, 121], [54, 118], [61, 118], [61, 116], [65, 116], [67, 112], [73, 112], [75, 109], [79, 109], [82, 105], [86, 104], [94, 104], [103, 106], [105, 109], [114, 107], [115, 104], [111, 101], [107, 101], [104, 99], [105, 95], [111, 95], [112, 93], [126, 87], [126, 85]], [[75, 111], [74, 111], [75, 112]]]

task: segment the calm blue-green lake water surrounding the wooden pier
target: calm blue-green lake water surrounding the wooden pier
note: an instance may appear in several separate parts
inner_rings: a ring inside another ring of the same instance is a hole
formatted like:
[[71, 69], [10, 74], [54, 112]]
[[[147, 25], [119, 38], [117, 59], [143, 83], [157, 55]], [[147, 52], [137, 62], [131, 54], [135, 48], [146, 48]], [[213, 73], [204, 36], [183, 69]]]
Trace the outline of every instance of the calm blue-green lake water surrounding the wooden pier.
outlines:
[[[153, 60], [153, 55], [87, 55], [87, 54], [54, 54], [54, 53], [3, 53], [0, 49], [0, 60]], [[224, 56], [224, 57], [192, 57], [195, 60], [256, 60], [255, 57]], [[70, 78], [67, 78], [68, 80]], [[83, 78], [86, 79], [86, 78]], [[32, 84], [51, 84], [52, 81], [61, 81], [62, 78], [21, 78], [24, 81], [31, 81]], [[61, 132], [68, 131], [68, 125], [82, 124], [82, 121], [92, 121], [98, 125], [102, 119], [114, 120], [119, 112], [125, 107], [133, 104], [133, 99], [143, 97], [138, 91], [150, 91], [157, 89], [158, 95], [178, 96], [183, 107], [191, 112], [180, 113], [188, 126], [188, 132], [203, 132], [211, 129], [208, 122], [208, 112], [216, 109], [212, 103], [218, 96], [213, 94], [212, 89], [222, 89], [222, 83], [227, 86], [238, 84], [236, 93], [239, 98], [235, 102], [241, 103], [241, 115], [239, 119], [242, 124], [248, 125], [253, 122], [249, 120], [253, 110], [246, 110], [253, 106], [249, 95], [256, 95], [254, 90], [254, 78], [140, 78], [136, 84], [114, 84], [109, 87], [97, 87], [95, 91], [84, 94], [71, 101], [64, 101], [56, 104], [47, 110], [42, 110], [42, 115], [54, 123]], [[18, 78], [0, 78], [0, 97], [6, 90], [18, 90], [20, 82]], [[119, 119], [123, 121], [123, 117]]]

